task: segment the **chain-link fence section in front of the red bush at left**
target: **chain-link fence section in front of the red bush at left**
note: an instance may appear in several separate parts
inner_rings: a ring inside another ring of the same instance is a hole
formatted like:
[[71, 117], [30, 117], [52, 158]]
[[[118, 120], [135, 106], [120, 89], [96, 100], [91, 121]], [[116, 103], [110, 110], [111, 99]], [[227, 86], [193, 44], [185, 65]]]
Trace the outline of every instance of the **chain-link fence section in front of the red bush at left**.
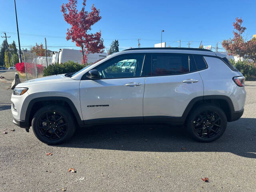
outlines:
[[43, 76], [44, 65], [37, 63], [36, 54], [24, 52], [24, 65], [26, 80], [35, 79]]

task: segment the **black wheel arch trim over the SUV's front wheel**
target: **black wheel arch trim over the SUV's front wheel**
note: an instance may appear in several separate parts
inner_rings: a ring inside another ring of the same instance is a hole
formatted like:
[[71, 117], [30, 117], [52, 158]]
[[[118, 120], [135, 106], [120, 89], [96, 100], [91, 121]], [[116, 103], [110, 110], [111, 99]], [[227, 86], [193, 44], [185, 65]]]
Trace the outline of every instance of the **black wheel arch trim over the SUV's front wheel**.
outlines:
[[41, 101], [64, 101], [64, 102], [67, 102], [76, 118], [76, 121], [78, 122], [78, 125], [84, 125], [84, 122], [80, 118], [80, 115], [79, 115], [74, 103], [69, 98], [60, 97], [60, 96], [49, 96], [49, 97], [34, 98], [29, 102], [28, 108], [26, 109], [26, 117], [25, 117], [25, 122], [26, 122], [26, 124], [29, 125], [29, 127], [31, 126], [31, 122], [29, 121], [30, 120], [29, 118], [30, 118], [30, 112], [32, 110], [32, 107], [36, 102], [41, 102]]

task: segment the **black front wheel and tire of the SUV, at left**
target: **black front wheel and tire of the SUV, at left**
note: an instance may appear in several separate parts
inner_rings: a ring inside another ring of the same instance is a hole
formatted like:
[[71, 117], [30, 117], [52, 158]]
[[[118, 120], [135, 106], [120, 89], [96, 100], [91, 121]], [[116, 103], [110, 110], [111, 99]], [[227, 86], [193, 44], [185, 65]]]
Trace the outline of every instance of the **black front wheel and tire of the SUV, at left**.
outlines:
[[35, 113], [32, 129], [40, 141], [60, 144], [73, 136], [76, 126], [73, 114], [66, 107], [51, 105], [44, 106]]

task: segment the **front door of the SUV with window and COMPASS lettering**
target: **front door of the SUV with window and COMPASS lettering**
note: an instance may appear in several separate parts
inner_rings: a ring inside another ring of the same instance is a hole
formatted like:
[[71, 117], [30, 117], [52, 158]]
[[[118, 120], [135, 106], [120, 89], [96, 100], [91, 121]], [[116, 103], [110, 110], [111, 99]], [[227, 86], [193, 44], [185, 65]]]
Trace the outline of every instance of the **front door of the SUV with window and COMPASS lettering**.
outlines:
[[[144, 54], [116, 56], [94, 68], [101, 79], [81, 80], [80, 104], [85, 124], [143, 122], [143, 61]], [[133, 70], [128, 68], [131, 62], [135, 63]]]

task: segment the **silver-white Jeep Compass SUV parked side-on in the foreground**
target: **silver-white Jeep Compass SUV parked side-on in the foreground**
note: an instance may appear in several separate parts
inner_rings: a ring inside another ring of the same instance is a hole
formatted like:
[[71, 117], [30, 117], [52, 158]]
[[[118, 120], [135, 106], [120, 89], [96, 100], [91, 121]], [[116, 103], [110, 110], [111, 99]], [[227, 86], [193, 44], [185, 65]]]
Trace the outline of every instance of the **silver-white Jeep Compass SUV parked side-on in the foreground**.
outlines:
[[[117, 66], [133, 60], [134, 70]], [[244, 112], [244, 76], [227, 58], [196, 48], [133, 48], [76, 73], [18, 84], [14, 124], [47, 144], [78, 126], [108, 123], [185, 124], [192, 138], [212, 142]]]

